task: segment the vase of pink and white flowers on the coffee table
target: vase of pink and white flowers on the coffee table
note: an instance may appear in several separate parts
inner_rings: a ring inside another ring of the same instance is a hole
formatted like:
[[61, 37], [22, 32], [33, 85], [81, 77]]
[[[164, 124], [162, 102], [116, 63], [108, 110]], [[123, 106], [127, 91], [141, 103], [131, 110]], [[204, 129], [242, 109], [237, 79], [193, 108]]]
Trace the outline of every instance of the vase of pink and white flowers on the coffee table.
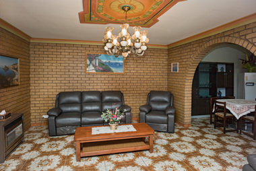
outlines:
[[109, 121], [110, 130], [115, 130], [117, 129], [117, 126], [119, 125], [124, 112], [125, 110], [122, 111], [118, 107], [115, 108], [114, 110], [109, 110], [107, 108], [106, 112], [102, 112], [101, 117], [104, 119], [105, 122]]

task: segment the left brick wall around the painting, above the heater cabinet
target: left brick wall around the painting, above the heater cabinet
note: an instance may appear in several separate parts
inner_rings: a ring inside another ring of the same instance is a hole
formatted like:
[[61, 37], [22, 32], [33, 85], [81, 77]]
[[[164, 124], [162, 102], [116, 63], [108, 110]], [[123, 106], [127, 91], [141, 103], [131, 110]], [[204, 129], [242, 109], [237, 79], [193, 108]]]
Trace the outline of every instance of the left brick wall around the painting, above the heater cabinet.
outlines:
[[24, 127], [28, 129], [30, 127], [30, 43], [0, 28], [0, 55], [20, 59], [20, 85], [0, 89], [0, 110], [24, 113]]

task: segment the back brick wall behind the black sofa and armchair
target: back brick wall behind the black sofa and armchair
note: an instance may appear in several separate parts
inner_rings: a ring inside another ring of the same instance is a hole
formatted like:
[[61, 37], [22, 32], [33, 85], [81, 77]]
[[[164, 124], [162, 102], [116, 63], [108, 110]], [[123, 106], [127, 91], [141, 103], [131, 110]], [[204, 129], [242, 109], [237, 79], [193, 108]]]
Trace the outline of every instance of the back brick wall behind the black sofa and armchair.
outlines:
[[96, 45], [30, 43], [32, 125], [40, 123], [42, 115], [55, 105], [59, 92], [121, 90], [132, 117], [138, 117], [150, 90], [167, 90], [167, 49], [148, 48], [143, 57], [128, 57], [123, 75], [85, 73], [86, 52], [103, 50]]

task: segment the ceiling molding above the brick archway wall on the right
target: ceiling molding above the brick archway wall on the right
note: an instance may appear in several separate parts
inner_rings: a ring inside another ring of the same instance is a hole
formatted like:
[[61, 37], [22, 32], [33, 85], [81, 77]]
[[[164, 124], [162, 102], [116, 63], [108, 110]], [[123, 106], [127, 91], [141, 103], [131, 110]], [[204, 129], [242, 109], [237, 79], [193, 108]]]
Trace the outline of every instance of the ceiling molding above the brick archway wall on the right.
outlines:
[[211, 30], [207, 30], [207, 31], [201, 32], [199, 34], [195, 34], [194, 36], [190, 36], [190, 37], [185, 38], [183, 40], [179, 40], [177, 42], [168, 44], [167, 46], [168, 46], [168, 48], [173, 48], [175, 46], [180, 46], [182, 44], [193, 42], [195, 40], [199, 40], [201, 38], [205, 38], [205, 37], [208, 37], [208, 36], [212, 36], [214, 34], [225, 32], [227, 30], [231, 30], [233, 28], [237, 28], [239, 26], [243, 26], [245, 24], [250, 24], [250, 23], [253, 23], [253, 22], [256, 22], [256, 13], [253, 13], [251, 15], [247, 15], [244, 18], [240, 18], [238, 20], [234, 20], [234, 21], [229, 22], [227, 24], [223, 24], [222, 26], [218, 26], [216, 28], [212, 28]]

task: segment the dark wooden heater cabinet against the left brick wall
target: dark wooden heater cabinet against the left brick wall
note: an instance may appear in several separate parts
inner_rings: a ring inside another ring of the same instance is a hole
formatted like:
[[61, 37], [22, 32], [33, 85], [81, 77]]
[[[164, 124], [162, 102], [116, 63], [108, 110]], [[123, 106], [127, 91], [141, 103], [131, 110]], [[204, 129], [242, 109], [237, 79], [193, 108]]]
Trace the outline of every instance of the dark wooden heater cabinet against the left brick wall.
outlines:
[[0, 120], [0, 164], [24, 141], [23, 113], [13, 113]]

